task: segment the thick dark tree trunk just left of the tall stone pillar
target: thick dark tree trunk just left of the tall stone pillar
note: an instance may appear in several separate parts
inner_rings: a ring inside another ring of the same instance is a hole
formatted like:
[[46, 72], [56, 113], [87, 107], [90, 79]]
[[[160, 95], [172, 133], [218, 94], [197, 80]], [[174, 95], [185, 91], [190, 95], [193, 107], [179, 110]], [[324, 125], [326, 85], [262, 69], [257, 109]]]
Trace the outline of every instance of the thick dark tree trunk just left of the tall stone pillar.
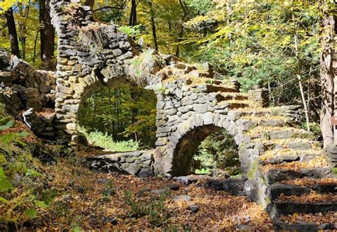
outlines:
[[55, 30], [50, 18], [50, 0], [40, 0], [40, 37], [41, 37], [41, 64], [46, 70], [53, 69], [55, 48]]

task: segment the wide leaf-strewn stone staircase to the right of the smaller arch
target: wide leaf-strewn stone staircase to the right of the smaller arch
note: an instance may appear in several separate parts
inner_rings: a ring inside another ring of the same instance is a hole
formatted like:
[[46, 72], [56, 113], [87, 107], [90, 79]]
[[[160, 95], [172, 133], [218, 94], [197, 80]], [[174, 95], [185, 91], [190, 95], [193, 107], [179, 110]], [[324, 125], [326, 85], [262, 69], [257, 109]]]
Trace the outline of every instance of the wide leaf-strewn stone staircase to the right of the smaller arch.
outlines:
[[336, 230], [337, 179], [312, 133], [290, 126], [270, 109], [241, 114], [237, 123], [263, 151], [247, 178], [260, 178], [275, 229]]

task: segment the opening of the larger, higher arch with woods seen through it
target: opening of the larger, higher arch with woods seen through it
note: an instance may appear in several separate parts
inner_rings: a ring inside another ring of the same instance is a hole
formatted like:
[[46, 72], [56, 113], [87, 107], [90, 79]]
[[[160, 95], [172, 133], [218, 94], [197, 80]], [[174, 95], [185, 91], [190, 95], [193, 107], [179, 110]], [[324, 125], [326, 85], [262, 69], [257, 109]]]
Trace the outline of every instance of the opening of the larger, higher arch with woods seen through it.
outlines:
[[112, 152], [154, 148], [156, 94], [122, 78], [98, 83], [82, 96], [77, 130]]

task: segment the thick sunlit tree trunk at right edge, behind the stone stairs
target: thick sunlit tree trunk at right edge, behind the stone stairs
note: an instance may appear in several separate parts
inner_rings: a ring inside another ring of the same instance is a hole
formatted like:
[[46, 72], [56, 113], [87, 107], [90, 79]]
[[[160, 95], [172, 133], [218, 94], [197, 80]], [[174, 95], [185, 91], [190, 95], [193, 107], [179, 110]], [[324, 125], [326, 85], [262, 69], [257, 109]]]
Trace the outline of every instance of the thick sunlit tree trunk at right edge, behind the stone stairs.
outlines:
[[[326, 6], [326, 0], [321, 1], [321, 7]], [[336, 91], [337, 86], [333, 82], [336, 77], [337, 59], [334, 48], [334, 39], [336, 39], [337, 26], [336, 15], [323, 10], [321, 23], [321, 86], [322, 86], [322, 111], [321, 111], [321, 131], [323, 135], [323, 146], [337, 143], [334, 141], [333, 126], [331, 125], [331, 116], [336, 114]], [[337, 135], [336, 135], [337, 136]]]

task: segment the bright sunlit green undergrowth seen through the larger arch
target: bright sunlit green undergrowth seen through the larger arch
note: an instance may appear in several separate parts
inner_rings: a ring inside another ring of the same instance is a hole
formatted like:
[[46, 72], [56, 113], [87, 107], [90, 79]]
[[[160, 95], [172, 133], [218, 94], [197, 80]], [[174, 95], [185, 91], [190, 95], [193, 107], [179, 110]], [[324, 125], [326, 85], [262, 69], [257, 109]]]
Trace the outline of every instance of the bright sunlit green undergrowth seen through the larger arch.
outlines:
[[77, 128], [77, 130], [84, 134], [89, 143], [92, 143], [92, 145], [105, 148], [112, 152], [134, 151], [138, 150], [139, 148], [139, 143], [135, 142], [134, 140], [114, 141], [113, 138], [107, 133], [102, 133], [100, 131], [87, 132], [85, 128], [80, 126]]

